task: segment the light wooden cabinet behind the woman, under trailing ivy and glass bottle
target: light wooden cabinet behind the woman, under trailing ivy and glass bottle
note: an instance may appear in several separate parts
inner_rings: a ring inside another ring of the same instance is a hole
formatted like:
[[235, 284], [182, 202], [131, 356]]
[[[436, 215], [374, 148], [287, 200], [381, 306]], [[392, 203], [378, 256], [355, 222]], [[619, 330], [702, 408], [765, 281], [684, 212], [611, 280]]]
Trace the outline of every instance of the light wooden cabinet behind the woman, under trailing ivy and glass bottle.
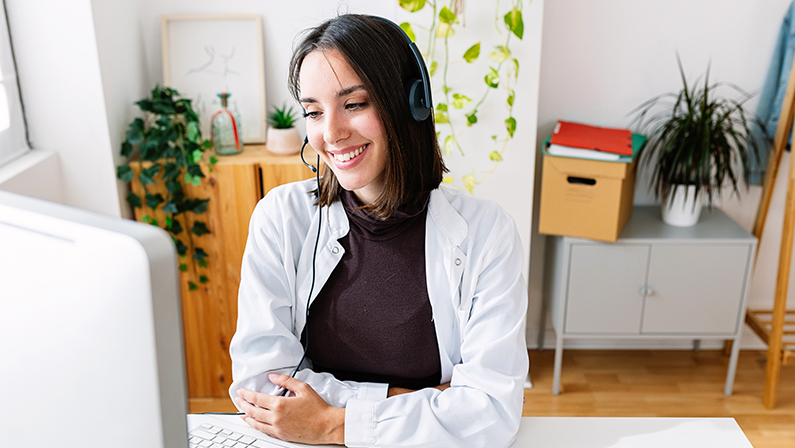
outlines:
[[[264, 145], [246, 146], [242, 154], [218, 156], [218, 160], [212, 172], [206, 164], [202, 166], [207, 179], [200, 186], [186, 188], [190, 197], [210, 199], [207, 211], [197, 217], [188, 213], [189, 216], [183, 218], [187, 222], [181, 223], [183, 228], [190, 229], [194, 218], [200, 219], [211, 231], [209, 235], [193, 236], [194, 242], [209, 254], [208, 269], [197, 273], [188, 263], [191, 268], [180, 275], [188, 396], [191, 398], [228, 396], [227, 390], [232, 383], [229, 341], [237, 323], [240, 264], [254, 207], [271, 188], [313, 176], [298, 155], [276, 156]], [[132, 190], [143, 197], [143, 187], [137, 181], [140, 165], [131, 166], [136, 174]], [[147, 191], [164, 193], [165, 186], [149, 185]], [[151, 214], [146, 208], [135, 212], [138, 220]], [[163, 219], [162, 211], [153, 216]], [[200, 283], [200, 274], [206, 275], [209, 282]], [[199, 285], [199, 289], [190, 291], [189, 282]]]

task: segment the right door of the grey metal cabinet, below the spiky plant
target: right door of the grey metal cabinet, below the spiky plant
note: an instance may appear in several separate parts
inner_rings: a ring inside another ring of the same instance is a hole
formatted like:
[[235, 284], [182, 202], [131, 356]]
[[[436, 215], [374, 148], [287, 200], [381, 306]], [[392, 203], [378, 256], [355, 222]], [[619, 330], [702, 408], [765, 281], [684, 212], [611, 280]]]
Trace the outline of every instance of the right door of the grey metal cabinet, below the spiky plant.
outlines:
[[746, 287], [748, 245], [655, 245], [642, 332], [726, 334], [737, 332]]

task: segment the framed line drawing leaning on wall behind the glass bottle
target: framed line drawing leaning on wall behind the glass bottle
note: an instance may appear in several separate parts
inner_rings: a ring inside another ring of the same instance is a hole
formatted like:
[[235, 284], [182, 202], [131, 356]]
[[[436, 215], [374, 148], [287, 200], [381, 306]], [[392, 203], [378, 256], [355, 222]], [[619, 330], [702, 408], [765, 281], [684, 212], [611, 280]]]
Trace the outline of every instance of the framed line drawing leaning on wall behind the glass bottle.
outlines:
[[221, 108], [219, 93], [240, 113], [245, 143], [265, 143], [265, 67], [262, 17], [256, 15], [163, 16], [163, 84], [193, 100], [201, 131]]

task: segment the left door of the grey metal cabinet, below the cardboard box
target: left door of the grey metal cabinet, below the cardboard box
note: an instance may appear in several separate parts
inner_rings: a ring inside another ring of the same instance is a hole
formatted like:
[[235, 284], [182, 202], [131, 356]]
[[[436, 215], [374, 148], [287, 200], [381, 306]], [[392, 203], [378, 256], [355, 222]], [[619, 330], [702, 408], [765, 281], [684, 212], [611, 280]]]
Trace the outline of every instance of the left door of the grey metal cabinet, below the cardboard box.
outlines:
[[566, 333], [638, 334], [649, 246], [572, 245]]

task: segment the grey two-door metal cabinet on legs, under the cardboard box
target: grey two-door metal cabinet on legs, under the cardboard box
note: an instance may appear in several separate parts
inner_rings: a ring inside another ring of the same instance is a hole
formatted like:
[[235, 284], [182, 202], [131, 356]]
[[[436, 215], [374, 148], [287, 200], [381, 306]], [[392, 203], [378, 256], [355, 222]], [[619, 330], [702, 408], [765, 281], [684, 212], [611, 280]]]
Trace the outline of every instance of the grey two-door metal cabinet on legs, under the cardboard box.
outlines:
[[704, 209], [693, 227], [674, 227], [659, 207], [635, 207], [615, 243], [551, 237], [538, 346], [548, 308], [552, 393], [560, 393], [566, 339], [731, 339], [731, 395], [756, 244], [718, 209]]

